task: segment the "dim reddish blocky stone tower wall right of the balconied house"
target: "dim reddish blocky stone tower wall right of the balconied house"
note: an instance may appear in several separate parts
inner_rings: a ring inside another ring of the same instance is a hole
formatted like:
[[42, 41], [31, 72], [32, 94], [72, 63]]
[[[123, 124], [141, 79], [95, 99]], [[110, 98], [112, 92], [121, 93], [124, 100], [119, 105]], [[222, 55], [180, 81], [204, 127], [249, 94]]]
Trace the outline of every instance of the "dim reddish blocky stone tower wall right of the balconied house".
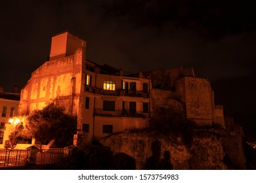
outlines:
[[175, 85], [177, 97], [186, 105], [186, 119], [197, 125], [212, 125], [214, 97], [205, 78], [183, 77]]

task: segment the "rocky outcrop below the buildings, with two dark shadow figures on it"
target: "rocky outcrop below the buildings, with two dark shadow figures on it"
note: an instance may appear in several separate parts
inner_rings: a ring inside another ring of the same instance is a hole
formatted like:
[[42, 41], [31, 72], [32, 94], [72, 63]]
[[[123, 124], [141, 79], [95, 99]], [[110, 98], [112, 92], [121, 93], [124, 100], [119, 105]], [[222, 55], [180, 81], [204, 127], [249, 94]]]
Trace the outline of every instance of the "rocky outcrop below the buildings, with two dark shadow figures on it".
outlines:
[[102, 139], [114, 153], [135, 159], [137, 169], [226, 169], [221, 139], [209, 131], [194, 132], [190, 144], [181, 135], [126, 132]]

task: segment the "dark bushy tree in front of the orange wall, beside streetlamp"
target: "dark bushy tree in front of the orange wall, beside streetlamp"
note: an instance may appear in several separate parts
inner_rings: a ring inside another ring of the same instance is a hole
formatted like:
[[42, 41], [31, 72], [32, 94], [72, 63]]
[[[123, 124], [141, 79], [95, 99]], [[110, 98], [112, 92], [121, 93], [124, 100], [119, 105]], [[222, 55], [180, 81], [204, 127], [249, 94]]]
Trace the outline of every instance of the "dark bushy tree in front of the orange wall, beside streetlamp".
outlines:
[[58, 147], [73, 144], [77, 119], [65, 114], [64, 110], [64, 107], [57, 107], [54, 103], [41, 110], [34, 110], [22, 121], [16, 137], [35, 138], [41, 144], [54, 139], [54, 144]]

